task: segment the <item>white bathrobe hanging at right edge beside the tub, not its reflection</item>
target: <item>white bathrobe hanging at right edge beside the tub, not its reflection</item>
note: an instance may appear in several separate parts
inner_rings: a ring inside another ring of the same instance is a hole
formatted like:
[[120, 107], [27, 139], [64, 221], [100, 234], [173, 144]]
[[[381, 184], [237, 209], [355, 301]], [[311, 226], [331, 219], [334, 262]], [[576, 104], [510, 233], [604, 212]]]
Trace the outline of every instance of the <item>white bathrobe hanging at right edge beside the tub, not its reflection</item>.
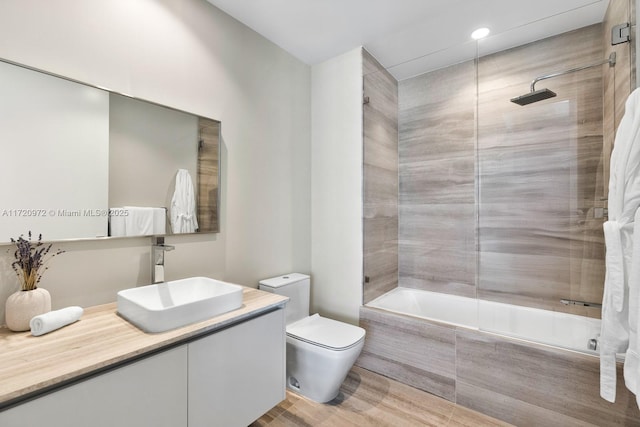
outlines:
[[[640, 377], [640, 91], [627, 99], [611, 153], [609, 220], [604, 223], [606, 276], [600, 333], [600, 395], [616, 398], [616, 353], [638, 400]], [[636, 225], [638, 229], [636, 230]]]

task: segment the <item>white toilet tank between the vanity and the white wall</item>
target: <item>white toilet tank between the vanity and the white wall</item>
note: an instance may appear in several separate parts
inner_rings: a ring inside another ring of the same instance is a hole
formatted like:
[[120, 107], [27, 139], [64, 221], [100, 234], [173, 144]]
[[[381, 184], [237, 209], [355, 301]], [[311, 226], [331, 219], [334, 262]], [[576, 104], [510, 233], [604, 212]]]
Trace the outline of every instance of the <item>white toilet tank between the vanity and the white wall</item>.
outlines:
[[260, 281], [260, 290], [289, 297], [285, 306], [287, 325], [309, 316], [311, 280], [300, 273], [285, 274]]

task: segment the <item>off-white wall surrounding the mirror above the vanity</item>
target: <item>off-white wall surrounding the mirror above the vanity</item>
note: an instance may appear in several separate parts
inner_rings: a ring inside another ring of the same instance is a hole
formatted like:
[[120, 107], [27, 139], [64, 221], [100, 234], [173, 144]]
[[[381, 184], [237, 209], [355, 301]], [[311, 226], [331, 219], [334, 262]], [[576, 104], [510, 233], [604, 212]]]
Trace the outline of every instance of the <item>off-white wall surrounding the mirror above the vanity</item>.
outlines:
[[[0, 57], [222, 122], [222, 232], [168, 238], [167, 280], [310, 270], [307, 65], [204, 0], [0, 2]], [[149, 280], [150, 239], [56, 246], [41, 284], [54, 307]], [[0, 302], [17, 286], [6, 248]]]

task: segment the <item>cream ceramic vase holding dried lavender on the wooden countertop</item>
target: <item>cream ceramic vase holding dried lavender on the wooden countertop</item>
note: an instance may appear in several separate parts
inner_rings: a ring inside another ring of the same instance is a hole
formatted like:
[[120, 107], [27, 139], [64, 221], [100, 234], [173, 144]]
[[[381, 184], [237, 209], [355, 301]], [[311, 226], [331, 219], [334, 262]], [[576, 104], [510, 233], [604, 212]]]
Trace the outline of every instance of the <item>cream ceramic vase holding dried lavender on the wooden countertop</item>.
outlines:
[[43, 288], [18, 291], [7, 298], [5, 318], [7, 328], [14, 332], [31, 329], [29, 322], [35, 316], [51, 311], [51, 295]]

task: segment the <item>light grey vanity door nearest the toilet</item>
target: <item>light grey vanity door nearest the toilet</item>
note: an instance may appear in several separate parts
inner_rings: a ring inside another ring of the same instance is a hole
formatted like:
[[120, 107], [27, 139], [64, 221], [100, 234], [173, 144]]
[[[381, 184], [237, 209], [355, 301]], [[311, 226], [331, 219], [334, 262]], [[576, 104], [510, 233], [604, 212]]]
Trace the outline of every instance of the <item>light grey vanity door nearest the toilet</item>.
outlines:
[[189, 344], [189, 427], [246, 427], [284, 398], [284, 310]]

